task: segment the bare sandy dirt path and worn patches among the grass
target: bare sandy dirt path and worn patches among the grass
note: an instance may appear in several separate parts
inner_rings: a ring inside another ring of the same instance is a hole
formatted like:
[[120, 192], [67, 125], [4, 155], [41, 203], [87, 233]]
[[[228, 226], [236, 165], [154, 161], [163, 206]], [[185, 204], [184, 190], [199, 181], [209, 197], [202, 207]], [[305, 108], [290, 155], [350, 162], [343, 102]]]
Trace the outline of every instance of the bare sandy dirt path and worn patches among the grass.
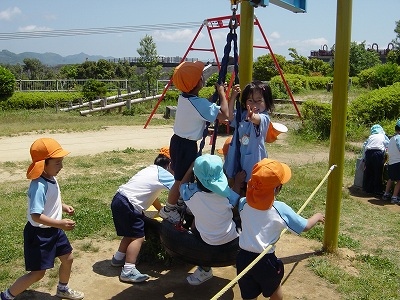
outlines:
[[[172, 135], [171, 126], [150, 127], [139, 126], [109, 127], [93, 133], [47, 134], [57, 139], [60, 144], [71, 151], [71, 155], [94, 154], [110, 150], [121, 150], [127, 147], [137, 149], [154, 149], [169, 144]], [[43, 134], [26, 134], [16, 137], [0, 138], [0, 162], [29, 160], [30, 144]], [[285, 134], [281, 134], [277, 142], [284, 143]], [[222, 146], [224, 139], [217, 140], [217, 148]], [[205, 152], [210, 149], [206, 143]], [[318, 152], [299, 154], [298, 157], [285, 157], [285, 153], [269, 153], [270, 157], [289, 164], [303, 164], [328, 159], [328, 153]], [[8, 174], [0, 168], [1, 180], [17, 180], [24, 178], [23, 172]], [[356, 192], [356, 191], [355, 191]], [[360, 195], [359, 195], [360, 196]], [[355, 197], [360, 201], [366, 198]], [[378, 200], [377, 200], [378, 201]], [[373, 203], [371, 201], [368, 201]], [[393, 206], [394, 207], [394, 206]], [[398, 209], [396, 206], [393, 209]], [[322, 225], [317, 225], [322, 226]], [[91, 243], [92, 249], [84, 251], [82, 245]], [[75, 260], [70, 280], [70, 286], [85, 293], [87, 300], [103, 299], [211, 299], [232, 279], [236, 277], [234, 266], [213, 268], [214, 277], [199, 286], [190, 286], [186, 276], [195, 270], [192, 265], [174, 261], [167, 267], [154, 263], [139, 263], [141, 272], [151, 276], [150, 280], [139, 284], [126, 284], [118, 279], [120, 268], [110, 265], [110, 260], [118, 248], [119, 241], [83, 240], [73, 243]], [[316, 241], [307, 240], [301, 236], [285, 234], [277, 243], [277, 256], [285, 264], [283, 293], [285, 299], [340, 299], [334, 287], [314, 275], [307, 267], [310, 257], [319, 255], [322, 245]], [[339, 251], [344, 264], [352, 257], [350, 251]], [[347, 258], [347, 259], [346, 259]], [[48, 276], [48, 275], [46, 275]], [[46, 281], [46, 279], [45, 279]], [[46, 285], [35, 287], [24, 292], [18, 299], [58, 299], [54, 296], [55, 287], [49, 289]], [[237, 284], [225, 292], [219, 299], [241, 299]], [[259, 297], [258, 299], [262, 299]]]

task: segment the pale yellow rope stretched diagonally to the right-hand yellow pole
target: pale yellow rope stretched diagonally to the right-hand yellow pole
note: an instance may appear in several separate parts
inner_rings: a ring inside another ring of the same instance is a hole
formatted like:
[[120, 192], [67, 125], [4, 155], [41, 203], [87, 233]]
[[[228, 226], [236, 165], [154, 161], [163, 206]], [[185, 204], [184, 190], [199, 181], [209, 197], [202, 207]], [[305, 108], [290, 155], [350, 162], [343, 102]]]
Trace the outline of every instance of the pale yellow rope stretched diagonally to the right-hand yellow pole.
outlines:
[[[314, 197], [315, 193], [320, 189], [322, 184], [325, 182], [325, 180], [328, 178], [329, 174], [331, 174], [331, 172], [333, 171], [333, 169], [335, 167], [336, 167], [336, 165], [332, 165], [329, 168], [325, 177], [321, 180], [321, 182], [318, 184], [318, 186], [315, 188], [315, 190], [311, 193], [311, 195], [308, 197], [306, 202], [304, 202], [303, 206], [299, 209], [297, 214], [300, 214], [304, 210], [304, 208], [307, 206], [307, 204], [310, 202], [310, 200]], [[284, 235], [286, 231], [287, 231], [286, 228], [284, 230], [282, 230], [281, 234], [279, 235], [279, 238], [276, 240], [275, 243], [270, 244], [267, 248], [265, 248], [263, 252], [261, 252], [242, 272], [240, 272], [239, 275], [237, 275], [234, 279], [232, 279], [231, 282], [229, 282], [222, 290], [220, 290], [214, 297], [212, 297], [211, 300], [219, 299], [219, 297], [221, 297], [230, 287], [232, 287], [236, 282], [238, 282], [239, 279], [242, 278], [244, 274], [246, 274], [256, 263], [258, 263], [260, 261], [261, 258], [263, 258], [263, 256], [265, 254], [267, 254], [269, 249], [271, 249], [272, 246], [275, 245], [279, 241], [281, 236]]]

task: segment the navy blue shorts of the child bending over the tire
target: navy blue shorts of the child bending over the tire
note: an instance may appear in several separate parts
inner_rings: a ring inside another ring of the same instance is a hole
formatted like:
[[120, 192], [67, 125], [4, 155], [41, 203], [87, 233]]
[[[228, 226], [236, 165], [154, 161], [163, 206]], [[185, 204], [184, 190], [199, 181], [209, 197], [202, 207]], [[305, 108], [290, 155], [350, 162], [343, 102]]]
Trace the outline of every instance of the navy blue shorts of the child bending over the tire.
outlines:
[[125, 196], [115, 194], [111, 202], [111, 211], [118, 236], [144, 237], [143, 214], [138, 212]]

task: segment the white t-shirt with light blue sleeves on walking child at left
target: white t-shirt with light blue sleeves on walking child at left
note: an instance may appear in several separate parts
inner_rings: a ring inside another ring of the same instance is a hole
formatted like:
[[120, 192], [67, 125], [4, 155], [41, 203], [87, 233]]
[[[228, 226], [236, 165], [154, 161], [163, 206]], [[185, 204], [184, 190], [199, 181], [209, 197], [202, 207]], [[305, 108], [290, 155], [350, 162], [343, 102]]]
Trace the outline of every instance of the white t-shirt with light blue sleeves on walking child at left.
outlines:
[[33, 221], [31, 214], [43, 214], [49, 218], [61, 220], [61, 193], [55, 177], [53, 177], [53, 180], [44, 177], [34, 179], [28, 188], [27, 217], [29, 223], [35, 227], [50, 227]]

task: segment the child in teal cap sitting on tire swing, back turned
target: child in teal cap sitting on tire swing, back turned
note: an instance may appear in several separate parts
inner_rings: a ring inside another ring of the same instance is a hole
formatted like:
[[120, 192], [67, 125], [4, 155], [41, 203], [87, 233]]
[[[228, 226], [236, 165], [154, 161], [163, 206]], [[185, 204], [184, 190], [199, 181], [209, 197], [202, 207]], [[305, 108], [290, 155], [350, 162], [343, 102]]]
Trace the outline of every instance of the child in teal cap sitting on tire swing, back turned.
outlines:
[[[193, 173], [197, 180], [189, 183]], [[233, 190], [229, 188], [222, 159], [210, 154], [196, 158], [193, 171], [189, 169], [182, 179], [180, 193], [194, 216], [192, 232], [209, 245], [223, 245], [239, 236], [232, 212], [241, 182], [236, 180], [236, 184]], [[212, 276], [210, 267], [199, 266], [186, 279], [191, 285], [199, 285]]]

